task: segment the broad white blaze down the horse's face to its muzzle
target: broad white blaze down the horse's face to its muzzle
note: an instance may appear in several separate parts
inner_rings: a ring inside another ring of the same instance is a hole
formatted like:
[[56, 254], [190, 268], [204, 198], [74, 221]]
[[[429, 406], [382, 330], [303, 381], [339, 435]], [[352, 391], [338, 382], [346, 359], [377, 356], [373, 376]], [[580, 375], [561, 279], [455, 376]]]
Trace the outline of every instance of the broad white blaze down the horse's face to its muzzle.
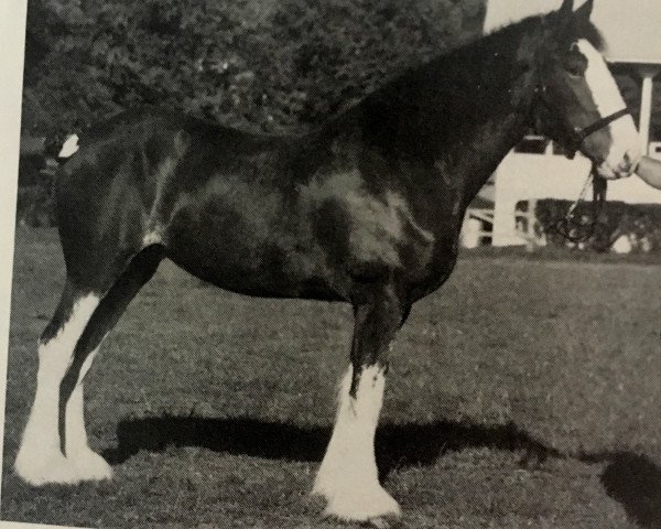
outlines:
[[[626, 102], [617, 87], [613, 74], [602, 54], [585, 39], [576, 42], [581, 53], [587, 58], [585, 80], [599, 115], [605, 118], [626, 108]], [[632, 174], [641, 158], [640, 140], [633, 118], [626, 115], [608, 125], [613, 144], [606, 162], [598, 168], [602, 176], [620, 177]]]

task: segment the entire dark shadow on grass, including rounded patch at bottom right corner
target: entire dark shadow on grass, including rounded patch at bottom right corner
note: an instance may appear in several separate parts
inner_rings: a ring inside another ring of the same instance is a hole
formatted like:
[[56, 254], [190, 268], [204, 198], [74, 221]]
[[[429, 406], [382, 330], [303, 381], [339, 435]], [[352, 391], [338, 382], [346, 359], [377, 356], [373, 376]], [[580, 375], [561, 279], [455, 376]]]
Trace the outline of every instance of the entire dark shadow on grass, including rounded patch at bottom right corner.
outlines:
[[[201, 446], [235, 455], [319, 462], [329, 438], [329, 428], [250, 418], [149, 417], [122, 420], [117, 429], [117, 447], [107, 450], [104, 455], [110, 463], [118, 464], [141, 450], [161, 452], [167, 446]], [[661, 467], [646, 456], [628, 452], [562, 454], [514, 423], [384, 424], [378, 430], [376, 445], [381, 478], [394, 468], [432, 465], [446, 452], [477, 447], [522, 452], [521, 464], [524, 466], [538, 465], [549, 457], [606, 463], [602, 474], [606, 493], [620, 503], [639, 526], [661, 529]]]

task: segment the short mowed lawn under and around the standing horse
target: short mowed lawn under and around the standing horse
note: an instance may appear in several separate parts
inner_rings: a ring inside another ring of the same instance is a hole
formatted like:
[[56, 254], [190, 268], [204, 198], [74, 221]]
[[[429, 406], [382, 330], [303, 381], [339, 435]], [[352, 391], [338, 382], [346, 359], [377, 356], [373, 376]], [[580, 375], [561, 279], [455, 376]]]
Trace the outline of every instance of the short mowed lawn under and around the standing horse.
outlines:
[[[468, 255], [391, 356], [378, 453], [410, 528], [661, 527], [661, 267]], [[334, 528], [308, 497], [350, 310], [248, 299], [163, 263], [86, 379], [115, 479], [11, 472], [64, 267], [20, 229], [1, 518], [87, 527]], [[360, 490], [356, 490], [360, 494]]]

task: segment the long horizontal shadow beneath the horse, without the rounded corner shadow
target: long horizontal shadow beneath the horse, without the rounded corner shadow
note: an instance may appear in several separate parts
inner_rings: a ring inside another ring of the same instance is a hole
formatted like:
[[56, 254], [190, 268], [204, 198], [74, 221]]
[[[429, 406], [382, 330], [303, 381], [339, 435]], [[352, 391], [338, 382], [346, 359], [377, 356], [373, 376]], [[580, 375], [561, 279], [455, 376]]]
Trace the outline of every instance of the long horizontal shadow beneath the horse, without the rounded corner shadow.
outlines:
[[[202, 446], [215, 452], [269, 460], [321, 462], [330, 428], [296, 427], [258, 419], [150, 417], [122, 420], [118, 446], [104, 454], [122, 463], [140, 450], [161, 452], [167, 446]], [[476, 425], [451, 421], [427, 424], [384, 424], [377, 432], [377, 460], [381, 477], [398, 467], [431, 465], [447, 451], [468, 447], [522, 451], [523, 464], [560, 456], [516, 424]]]

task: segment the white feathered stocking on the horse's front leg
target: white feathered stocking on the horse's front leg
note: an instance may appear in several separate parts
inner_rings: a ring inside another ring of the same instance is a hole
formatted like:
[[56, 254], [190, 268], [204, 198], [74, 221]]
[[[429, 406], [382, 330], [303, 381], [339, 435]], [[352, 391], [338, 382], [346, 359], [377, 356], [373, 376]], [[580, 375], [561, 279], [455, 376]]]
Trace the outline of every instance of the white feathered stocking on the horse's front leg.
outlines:
[[325, 514], [339, 519], [399, 516], [399, 505], [379, 484], [375, 458], [386, 378], [382, 368], [366, 368], [354, 399], [349, 395], [351, 373], [349, 367], [343, 379], [335, 429], [312, 492], [328, 501]]

